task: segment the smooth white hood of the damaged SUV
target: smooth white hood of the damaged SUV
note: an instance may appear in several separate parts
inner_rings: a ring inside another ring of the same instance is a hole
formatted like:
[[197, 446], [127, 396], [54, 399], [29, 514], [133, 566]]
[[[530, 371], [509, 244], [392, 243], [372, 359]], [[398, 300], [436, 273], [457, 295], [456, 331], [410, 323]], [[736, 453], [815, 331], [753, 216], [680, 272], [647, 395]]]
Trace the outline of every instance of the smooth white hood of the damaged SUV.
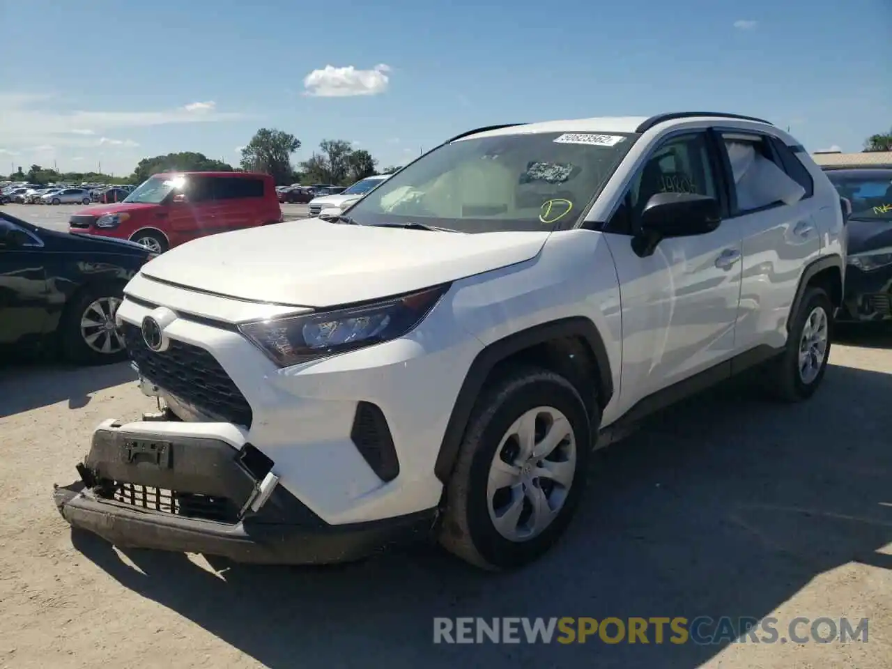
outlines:
[[549, 234], [464, 235], [304, 219], [195, 239], [162, 253], [143, 274], [241, 300], [325, 308], [530, 260]]

